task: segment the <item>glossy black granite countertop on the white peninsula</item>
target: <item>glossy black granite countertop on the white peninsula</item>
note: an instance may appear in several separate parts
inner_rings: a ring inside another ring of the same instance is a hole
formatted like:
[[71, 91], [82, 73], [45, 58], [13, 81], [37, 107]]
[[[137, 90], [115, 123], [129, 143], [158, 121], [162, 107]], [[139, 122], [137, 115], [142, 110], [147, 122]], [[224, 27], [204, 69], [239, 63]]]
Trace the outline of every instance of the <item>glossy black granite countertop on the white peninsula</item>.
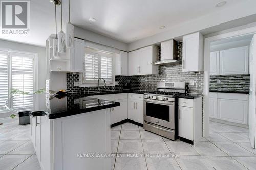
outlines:
[[[13, 96], [12, 98], [20, 98]], [[92, 112], [96, 110], [108, 109], [120, 106], [119, 102], [96, 99], [88, 97], [87, 94], [66, 94], [62, 96], [51, 96], [49, 94], [33, 94], [33, 99], [40, 102], [36, 105], [36, 110], [28, 110], [33, 116], [49, 116], [49, 119], [72, 116], [81, 113]], [[19, 112], [15, 108], [8, 110]]]

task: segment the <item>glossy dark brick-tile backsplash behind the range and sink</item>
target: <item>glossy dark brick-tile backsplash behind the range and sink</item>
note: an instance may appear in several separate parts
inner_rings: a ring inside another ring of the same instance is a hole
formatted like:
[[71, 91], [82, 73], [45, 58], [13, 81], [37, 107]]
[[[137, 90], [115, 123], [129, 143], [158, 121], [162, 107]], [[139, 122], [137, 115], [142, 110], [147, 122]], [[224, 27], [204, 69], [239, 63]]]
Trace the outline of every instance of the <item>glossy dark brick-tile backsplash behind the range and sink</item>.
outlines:
[[[182, 59], [182, 42], [178, 44], [178, 57]], [[159, 59], [161, 51], [159, 49]], [[108, 86], [106, 89], [100, 87], [102, 91], [120, 91], [122, 82], [131, 81], [132, 91], [155, 91], [157, 82], [186, 82], [186, 90], [190, 94], [203, 94], [203, 72], [182, 72], [182, 65], [159, 66], [159, 75], [141, 76], [115, 76], [115, 81], [119, 85]], [[194, 84], [191, 84], [191, 80]], [[97, 87], [77, 87], [73, 82], [79, 81], [79, 74], [67, 73], [67, 90], [73, 93], [92, 93], [97, 91]]]

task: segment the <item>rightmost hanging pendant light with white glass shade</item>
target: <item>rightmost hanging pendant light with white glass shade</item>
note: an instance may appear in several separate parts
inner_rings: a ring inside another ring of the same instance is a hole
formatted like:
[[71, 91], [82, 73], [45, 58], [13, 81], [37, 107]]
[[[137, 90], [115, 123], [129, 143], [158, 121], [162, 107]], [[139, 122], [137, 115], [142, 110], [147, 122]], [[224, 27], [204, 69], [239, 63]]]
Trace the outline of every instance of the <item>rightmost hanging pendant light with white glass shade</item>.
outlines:
[[69, 22], [66, 23], [66, 47], [74, 48], [75, 46], [75, 35], [74, 26], [70, 22], [70, 0], [69, 0]]

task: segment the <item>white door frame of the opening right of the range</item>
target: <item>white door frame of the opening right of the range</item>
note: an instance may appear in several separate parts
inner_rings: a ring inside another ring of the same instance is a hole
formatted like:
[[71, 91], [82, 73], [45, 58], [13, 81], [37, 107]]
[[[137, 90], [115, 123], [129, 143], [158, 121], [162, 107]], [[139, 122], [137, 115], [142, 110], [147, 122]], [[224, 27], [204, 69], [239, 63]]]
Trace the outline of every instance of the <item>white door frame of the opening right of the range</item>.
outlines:
[[210, 43], [214, 41], [218, 41], [225, 38], [244, 36], [248, 34], [255, 34], [256, 27], [250, 27], [246, 29], [241, 29], [237, 31], [232, 31], [224, 34], [215, 35], [212, 37], [204, 38], [204, 113], [203, 113], [203, 136], [209, 136], [209, 70], [210, 70]]

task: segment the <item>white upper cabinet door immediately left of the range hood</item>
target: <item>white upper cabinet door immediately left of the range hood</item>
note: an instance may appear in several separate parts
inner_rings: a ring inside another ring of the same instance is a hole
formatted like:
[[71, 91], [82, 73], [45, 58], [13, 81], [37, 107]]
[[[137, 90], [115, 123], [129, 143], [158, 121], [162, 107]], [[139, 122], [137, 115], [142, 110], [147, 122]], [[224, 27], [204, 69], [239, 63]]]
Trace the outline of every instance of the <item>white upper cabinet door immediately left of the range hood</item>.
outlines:
[[139, 74], [152, 74], [152, 46], [142, 48], [140, 58], [141, 66], [139, 66]]

